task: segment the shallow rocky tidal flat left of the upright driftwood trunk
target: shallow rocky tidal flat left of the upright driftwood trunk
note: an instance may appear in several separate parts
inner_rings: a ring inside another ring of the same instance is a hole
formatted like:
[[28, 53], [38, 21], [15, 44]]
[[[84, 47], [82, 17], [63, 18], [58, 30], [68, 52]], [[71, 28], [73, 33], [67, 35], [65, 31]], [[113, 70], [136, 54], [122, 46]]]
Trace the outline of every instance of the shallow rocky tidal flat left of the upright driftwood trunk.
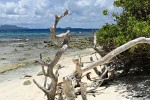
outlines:
[[43, 41], [0, 43], [0, 73], [31, 65], [39, 58], [40, 53], [44, 58], [53, 58], [56, 52], [57, 48], [46, 47]]

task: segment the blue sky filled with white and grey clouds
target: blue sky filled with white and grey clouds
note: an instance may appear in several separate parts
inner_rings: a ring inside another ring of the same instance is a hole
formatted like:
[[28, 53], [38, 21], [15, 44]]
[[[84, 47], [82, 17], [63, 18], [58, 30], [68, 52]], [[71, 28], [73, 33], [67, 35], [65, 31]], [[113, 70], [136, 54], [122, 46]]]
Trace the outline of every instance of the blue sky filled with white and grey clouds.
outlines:
[[[114, 0], [0, 0], [0, 25], [18, 25], [28, 28], [49, 28], [55, 14], [66, 9], [69, 14], [57, 27], [100, 28], [113, 23], [112, 12], [121, 12], [113, 6]], [[108, 16], [103, 10], [109, 11]]]

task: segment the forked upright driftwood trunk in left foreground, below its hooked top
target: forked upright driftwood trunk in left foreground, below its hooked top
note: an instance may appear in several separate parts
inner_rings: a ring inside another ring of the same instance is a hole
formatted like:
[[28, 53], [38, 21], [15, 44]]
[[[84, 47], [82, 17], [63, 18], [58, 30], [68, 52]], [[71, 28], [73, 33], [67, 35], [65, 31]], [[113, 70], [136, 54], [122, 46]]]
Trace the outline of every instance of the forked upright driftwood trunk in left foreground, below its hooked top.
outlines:
[[[56, 95], [56, 88], [57, 88], [57, 82], [58, 82], [58, 74], [57, 71], [60, 69], [56, 70], [56, 73], [53, 73], [54, 66], [58, 63], [59, 59], [61, 58], [61, 55], [66, 51], [67, 49], [67, 44], [63, 45], [63, 47], [56, 53], [55, 58], [51, 61], [50, 64], [46, 64], [47, 67], [47, 73], [45, 73], [45, 76], [49, 77], [51, 79], [51, 83], [49, 84], [48, 88], [46, 86], [42, 87], [40, 84], [38, 84], [35, 80], [33, 82], [46, 94], [48, 100], [54, 100], [55, 95]], [[43, 68], [43, 64], [42, 64]], [[45, 81], [46, 82], [46, 81]], [[44, 82], [44, 84], [45, 84]]]

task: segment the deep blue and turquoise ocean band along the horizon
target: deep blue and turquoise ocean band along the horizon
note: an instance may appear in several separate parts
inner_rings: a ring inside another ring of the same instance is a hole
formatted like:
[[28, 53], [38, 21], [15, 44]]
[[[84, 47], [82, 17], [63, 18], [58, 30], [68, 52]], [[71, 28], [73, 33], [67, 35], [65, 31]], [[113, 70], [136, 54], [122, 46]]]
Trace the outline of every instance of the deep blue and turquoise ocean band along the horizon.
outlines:
[[[56, 33], [64, 33], [70, 30], [71, 36], [92, 36], [93, 32], [97, 29], [81, 29], [81, 28], [70, 28], [70, 29], [56, 29]], [[38, 39], [49, 39], [49, 29], [15, 29], [15, 30], [0, 30], [0, 42], [11, 42], [21, 40], [38, 40]]]

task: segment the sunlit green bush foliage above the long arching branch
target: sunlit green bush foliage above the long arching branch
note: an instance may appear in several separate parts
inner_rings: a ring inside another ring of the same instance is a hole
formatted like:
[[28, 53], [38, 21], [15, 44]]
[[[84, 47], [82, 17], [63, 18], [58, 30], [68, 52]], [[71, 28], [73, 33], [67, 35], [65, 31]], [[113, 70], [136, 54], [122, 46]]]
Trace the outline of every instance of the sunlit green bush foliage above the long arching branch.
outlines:
[[[124, 10], [120, 15], [112, 14], [117, 24], [106, 24], [97, 32], [97, 43], [111, 45], [114, 49], [135, 38], [150, 37], [149, 0], [117, 0], [114, 5]], [[104, 10], [103, 14], [107, 15], [107, 12]]]

